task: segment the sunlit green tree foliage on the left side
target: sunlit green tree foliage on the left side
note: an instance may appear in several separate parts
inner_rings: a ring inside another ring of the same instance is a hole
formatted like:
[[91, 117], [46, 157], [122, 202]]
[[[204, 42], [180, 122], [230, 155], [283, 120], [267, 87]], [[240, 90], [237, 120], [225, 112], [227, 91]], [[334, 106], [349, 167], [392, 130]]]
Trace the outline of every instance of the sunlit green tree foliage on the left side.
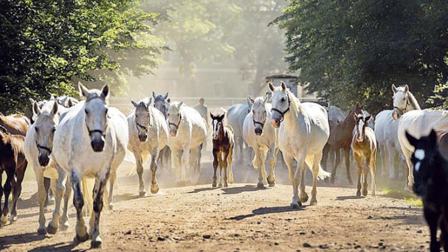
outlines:
[[23, 111], [29, 97], [73, 94], [77, 79], [150, 72], [161, 50], [148, 25], [156, 16], [135, 0], [1, 1], [0, 108]]

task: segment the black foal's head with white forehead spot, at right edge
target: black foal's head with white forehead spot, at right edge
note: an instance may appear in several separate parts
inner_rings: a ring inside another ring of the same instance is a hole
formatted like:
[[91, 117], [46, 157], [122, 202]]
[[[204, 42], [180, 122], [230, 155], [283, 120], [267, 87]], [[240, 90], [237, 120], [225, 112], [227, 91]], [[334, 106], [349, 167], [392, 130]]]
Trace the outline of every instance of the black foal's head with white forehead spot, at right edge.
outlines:
[[414, 185], [412, 189], [415, 194], [423, 196], [428, 189], [428, 180], [431, 178], [431, 174], [434, 169], [443, 169], [440, 164], [436, 164], [440, 156], [437, 147], [437, 135], [434, 130], [427, 136], [422, 136], [420, 139], [415, 138], [406, 131], [406, 138], [409, 141], [415, 151], [411, 155], [411, 161], [414, 165]]

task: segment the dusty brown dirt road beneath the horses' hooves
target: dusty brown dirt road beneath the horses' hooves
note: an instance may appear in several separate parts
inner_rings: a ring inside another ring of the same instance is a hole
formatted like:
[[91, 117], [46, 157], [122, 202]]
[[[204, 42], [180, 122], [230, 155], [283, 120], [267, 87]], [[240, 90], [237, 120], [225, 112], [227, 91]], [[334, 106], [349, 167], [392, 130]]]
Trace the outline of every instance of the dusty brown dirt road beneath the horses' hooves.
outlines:
[[[211, 164], [204, 163], [201, 185], [170, 187], [160, 175], [161, 192], [138, 198], [136, 179], [124, 179], [115, 191], [115, 208], [101, 216], [103, 249], [158, 251], [426, 251], [429, 232], [422, 210], [388, 198], [355, 197], [354, 187], [319, 183], [318, 205], [289, 207], [292, 188], [284, 168], [277, 185], [257, 189], [257, 173], [248, 165], [235, 168], [237, 184], [211, 188]], [[343, 170], [343, 169], [340, 169]], [[343, 172], [343, 171], [339, 171]], [[309, 175], [308, 175], [309, 176]], [[399, 183], [404, 183], [403, 181]], [[0, 228], [0, 250], [84, 250], [73, 244], [71, 227], [56, 235], [37, 235], [38, 207], [34, 181], [24, 182], [19, 219]], [[310, 191], [307, 187], [307, 191]], [[53, 206], [49, 207], [52, 210]], [[46, 214], [47, 221], [51, 212]]]

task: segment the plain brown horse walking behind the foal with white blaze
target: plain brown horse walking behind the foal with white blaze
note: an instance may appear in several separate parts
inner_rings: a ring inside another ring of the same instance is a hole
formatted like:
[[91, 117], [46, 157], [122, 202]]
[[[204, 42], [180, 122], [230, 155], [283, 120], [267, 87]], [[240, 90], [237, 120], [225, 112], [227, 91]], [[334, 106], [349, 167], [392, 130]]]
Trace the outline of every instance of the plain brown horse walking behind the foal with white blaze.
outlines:
[[[345, 166], [347, 169], [347, 180], [350, 184], [353, 184], [350, 176], [350, 145], [352, 143], [353, 128], [355, 127], [355, 121], [353, 116], [361, 114], [362, 106], [357, 103], [355, 108], [352, 109], [345, 120], [339, 124], [330, 124], [330, 137], [328, 138], [327, 146], [323, 152], [323, 163], [326, 165], [326, 159], [328, 157], [328, 151], [334, 150], [336, 154], [336, 160], [334, 162], [333, 171], [331, 172], [331, 183], [334, 183], [334, 177], [339, 163], [341, 162], [340, 149], [344, 149], [345, 154]], [[326, 167], [325, 167], [326, 169]]]

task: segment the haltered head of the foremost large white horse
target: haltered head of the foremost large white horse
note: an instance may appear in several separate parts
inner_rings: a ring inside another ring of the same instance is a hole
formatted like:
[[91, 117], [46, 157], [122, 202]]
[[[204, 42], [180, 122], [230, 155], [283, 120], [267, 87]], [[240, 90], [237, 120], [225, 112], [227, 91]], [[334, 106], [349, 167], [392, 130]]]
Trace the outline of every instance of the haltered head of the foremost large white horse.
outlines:
[[86, 98], [83, 106], [87, 131], [93, 151], [101, 152], [104, 149], [107, 130], [107, 111], [109, 87], [104, 85], [101, 90], [89, 90], [80, 82], [78, 83], [80, 96]]

